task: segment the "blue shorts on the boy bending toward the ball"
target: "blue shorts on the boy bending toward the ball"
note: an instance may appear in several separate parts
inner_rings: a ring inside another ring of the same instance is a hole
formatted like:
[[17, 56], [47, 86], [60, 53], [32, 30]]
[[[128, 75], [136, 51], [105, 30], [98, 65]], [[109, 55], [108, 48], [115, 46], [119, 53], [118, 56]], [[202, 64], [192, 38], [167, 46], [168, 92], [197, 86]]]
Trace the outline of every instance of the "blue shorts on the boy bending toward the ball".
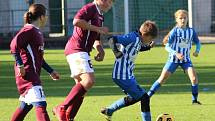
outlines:
[[136, 79], [113, 79], [113, 81], [128, 95], [133, 99], [139, 100], [146, 91], [140, 87]]

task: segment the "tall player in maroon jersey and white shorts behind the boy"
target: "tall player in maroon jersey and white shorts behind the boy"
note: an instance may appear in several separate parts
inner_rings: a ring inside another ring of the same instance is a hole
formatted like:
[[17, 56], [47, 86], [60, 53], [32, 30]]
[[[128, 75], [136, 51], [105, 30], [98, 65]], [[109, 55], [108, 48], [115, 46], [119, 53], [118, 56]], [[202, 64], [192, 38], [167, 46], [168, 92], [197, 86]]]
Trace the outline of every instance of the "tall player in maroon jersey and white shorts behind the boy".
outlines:
[[84, 95], [95, 83], [90, 52], [94, 47], [98, 52], [94, 59], [103, 61], [105, 52], [100, 42], [100, 34], [108, 33], [108, 28], [103, 27], [103, 13], [111, 8], [112, 2], [113, 0], [94, 0], [84, 5], [75, 15], [74, 31], [66, 44], [65, 55], [76, 85], [64, 102], [53, 109], [60, 121], [74, 120]]

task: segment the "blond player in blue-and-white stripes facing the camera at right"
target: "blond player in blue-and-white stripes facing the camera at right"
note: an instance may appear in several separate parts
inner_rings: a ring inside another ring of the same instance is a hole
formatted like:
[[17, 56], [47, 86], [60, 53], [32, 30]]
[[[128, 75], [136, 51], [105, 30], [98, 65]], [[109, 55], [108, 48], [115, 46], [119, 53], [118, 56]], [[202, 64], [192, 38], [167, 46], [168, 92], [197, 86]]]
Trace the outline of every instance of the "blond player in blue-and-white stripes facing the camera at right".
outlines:
[[200, 51], [200, 41], [193, 28], [187, 26], [188, 12], [178, 10], [175, 13], [176, 26], [164, 38], [165, 49], [169, 52], [169, 58], [157, 81], [154, 82], [148, 95], [151, 97], [160, 86], [175, 72], [178, 66], [187, 72], [192, 84], [192, 103], [201, 104], [198, 98], [198, 78], [190, 59], [192, 42], [196, 44], [193, 56], [198, 57]]

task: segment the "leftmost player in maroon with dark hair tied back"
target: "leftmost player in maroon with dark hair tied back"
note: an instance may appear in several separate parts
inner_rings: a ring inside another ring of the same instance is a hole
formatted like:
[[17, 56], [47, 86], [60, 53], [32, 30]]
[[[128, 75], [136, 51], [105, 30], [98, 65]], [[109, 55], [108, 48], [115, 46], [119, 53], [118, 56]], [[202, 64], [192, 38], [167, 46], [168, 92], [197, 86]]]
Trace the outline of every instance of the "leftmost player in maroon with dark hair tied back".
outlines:
[[42, 4], [32, 4], [25, 13], [24, 21], [26, 24], [10, 44], [11, 53], [16, 61], [14, 70], [21, 102], [11, 121], [23, 121], [33, 106], [37, 121], [50, 121], [40, 72], [41, 68], [44, 68], [53, 80], [59, 79], [59, 74], [43, 58], [44, 40], [39, 28], [46, 23], [46, 8]]

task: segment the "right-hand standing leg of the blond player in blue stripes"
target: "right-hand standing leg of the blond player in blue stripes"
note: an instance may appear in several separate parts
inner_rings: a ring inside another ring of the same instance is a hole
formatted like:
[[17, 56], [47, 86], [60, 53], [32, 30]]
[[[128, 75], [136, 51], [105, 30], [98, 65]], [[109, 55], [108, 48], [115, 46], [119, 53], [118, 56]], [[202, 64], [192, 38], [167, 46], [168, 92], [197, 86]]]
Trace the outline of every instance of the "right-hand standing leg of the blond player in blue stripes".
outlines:
[[198, 77], [195, 69], [193, 68], [192, 63], [191, 62], [184, 63], [182, 65], [182, 68], [184, 68], [187, 71], [187, 74], [191, 81], [192, 103], [201, 105], [201, 103], [198, 101]]

